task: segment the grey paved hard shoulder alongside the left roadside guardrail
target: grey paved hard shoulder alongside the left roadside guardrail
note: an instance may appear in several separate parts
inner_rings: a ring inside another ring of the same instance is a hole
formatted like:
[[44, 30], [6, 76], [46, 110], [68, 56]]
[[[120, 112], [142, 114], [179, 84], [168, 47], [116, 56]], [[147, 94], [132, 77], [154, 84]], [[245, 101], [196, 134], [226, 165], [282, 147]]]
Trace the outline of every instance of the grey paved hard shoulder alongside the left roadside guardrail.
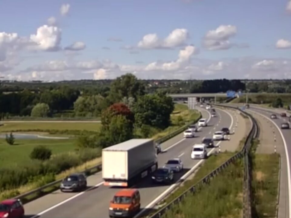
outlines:
[[[199, 111], [201, 112], [203, 118], [209, 119], [210, 114], [207, 110], [200, 109]], [[183, 141], [185, 141], [185, 140], [183, 138], [183, 133], [181, 133], [181, 134], [167, 140], [166, 142], [162, 143], [161, 148], [162, 148], [162, 150], [169, 149], [169, 148], [172, 149], [176, 146], [179, 146], [180, 143], [182, 143]], [[158, 157], [159, 156], [160, 156], [160, 154], [158, 155]], [[168, 158], [168, 157], [166, 157], [166, 158]], [[164, 160], [165, 160], [165, 158], [162, 157], [162, 161], [164, 161]], [[159, 163], [161, 163], [161, 161], [159, 161]], [[96, 184], [99, 184], [102, 181], [103, 181], [102, 172], [99, 172], [99, 173], [96, 173], [96, 174], [93, 174], [93, 175], [87, 177], [88, 189], [94, 187]], [[74, 192], [62, 193], [60, 190], [56, 190], [48, 195], [45, 195], [45, 196], [38, 198], [34, 201], [26, 203], [24, 205], [25, 211], [27, 214], [37, 214], [37, 213], [40, 213], [40, 212], [46, 210], [47, 208], [50, 208], [58, 203], [62, 203], [63, 201], [74, 197], [76, 194], [78, 194], [78, 193], [74, 193]]]

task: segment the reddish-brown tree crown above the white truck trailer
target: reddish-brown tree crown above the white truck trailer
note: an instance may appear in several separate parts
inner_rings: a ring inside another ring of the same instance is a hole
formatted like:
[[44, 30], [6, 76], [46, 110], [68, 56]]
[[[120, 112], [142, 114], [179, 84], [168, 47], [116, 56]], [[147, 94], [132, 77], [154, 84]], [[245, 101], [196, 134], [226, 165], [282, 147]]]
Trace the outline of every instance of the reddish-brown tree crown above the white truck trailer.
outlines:
[[105, 111], [103, 111], [101, 116], [101, 123], [102, 126], [105, 129], [109, 128], [109, 124], [111, 123], [111, 120], [113, 117], [117, 115], [125, 116], [125, 118], [129, 121], [131, 126], [133, 126], [134, 123], [134, 114], [130, 109], [123, 103], [115, 103], [112, 104], [109, 108], [107, 108]]

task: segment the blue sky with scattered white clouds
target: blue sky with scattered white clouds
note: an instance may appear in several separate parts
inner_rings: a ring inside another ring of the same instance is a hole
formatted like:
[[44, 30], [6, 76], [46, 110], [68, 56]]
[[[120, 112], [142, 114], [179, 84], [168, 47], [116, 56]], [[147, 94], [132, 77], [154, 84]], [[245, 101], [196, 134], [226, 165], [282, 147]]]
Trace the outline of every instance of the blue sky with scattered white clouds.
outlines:
[[0, 78], [291, 79], [291, 0], [0, 1]]

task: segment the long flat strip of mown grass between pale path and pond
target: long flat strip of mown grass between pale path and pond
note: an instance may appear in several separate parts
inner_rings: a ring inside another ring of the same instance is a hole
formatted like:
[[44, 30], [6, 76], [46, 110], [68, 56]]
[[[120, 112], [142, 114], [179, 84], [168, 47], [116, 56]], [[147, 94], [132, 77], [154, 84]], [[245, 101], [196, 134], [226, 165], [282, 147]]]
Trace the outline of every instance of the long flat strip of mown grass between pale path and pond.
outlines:
[[32, 131], [32, 130], [88, 130], [98, 131], [101, 127], [101, 123], [5, 123], [0, 126], [0, 132], [8, 131]]

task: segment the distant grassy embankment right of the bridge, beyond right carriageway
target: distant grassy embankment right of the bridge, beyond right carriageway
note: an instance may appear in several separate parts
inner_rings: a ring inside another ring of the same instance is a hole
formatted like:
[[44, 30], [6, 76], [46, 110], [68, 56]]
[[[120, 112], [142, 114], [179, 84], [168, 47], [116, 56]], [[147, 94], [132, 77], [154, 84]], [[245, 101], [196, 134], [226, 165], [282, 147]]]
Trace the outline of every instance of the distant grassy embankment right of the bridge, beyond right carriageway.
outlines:
[[[272, 104], [276, 98], [281, 98], [284, 104], [291, 103], [291, 94], [288, 93], [256, 93], [249, 94], [248, 101], [250, 104]], [[239, 98], [235, 98], [230, 103], [246, 103], [246, 95], [243, 95]]]

